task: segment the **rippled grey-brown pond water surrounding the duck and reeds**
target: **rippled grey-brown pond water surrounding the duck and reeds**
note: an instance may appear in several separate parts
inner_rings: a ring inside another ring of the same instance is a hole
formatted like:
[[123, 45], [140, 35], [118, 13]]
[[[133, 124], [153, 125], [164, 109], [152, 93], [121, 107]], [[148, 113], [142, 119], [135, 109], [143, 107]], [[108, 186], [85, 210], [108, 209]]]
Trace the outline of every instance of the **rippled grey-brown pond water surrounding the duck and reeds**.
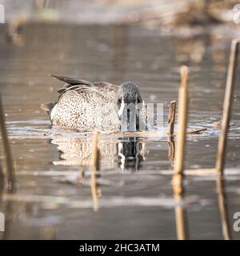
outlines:
[[[90, 81], [133, 80], [146, 102], [178, 98], [179, 66], [190, 66], [190, 128], [186, 168], [212, 168], [221, 118], [230, 39], [235, 30], [211, 27], [195, 35], [162, 34], [136, 26], [28, 24], [20, 34], [0, 34], [0, 86], [17, 173], [17, 194], [2, 194], [2, 239], [177, 238], [172, 162], [164, 136], [102, 135], [101, 173], [91, 179], [91, 136], [50, 130], [39, 106], [57, 98], [61, 82], [49, 74]], [[239, 70], [239, 69], [238, 69]], [[239, 72], [238, 72], [239, 73]], [[226, 156], [225, 196], [232, 238], [240, 211], [240, 76], [234, 94]], [[122, 153], [122, 154], [119, 154]], [[214, 176], [187, 176], [186, 222], [190, 238], [222, 239]]]

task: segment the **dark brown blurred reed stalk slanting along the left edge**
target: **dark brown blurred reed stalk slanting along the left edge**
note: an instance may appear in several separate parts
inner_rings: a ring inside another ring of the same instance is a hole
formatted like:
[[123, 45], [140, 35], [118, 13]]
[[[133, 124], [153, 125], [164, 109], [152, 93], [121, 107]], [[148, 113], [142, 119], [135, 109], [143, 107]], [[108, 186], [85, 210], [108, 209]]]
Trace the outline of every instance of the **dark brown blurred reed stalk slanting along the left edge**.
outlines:
[[3, 156], [6, 166], [7, 190], [14, 192], [16, 190], [16, 178], [14, 173], [14, 162], [10, 151], [10, 142], [7, 137], [5, 114], [2, 106], [2, 95], [0, 93], [0, 128], [2, 137]]

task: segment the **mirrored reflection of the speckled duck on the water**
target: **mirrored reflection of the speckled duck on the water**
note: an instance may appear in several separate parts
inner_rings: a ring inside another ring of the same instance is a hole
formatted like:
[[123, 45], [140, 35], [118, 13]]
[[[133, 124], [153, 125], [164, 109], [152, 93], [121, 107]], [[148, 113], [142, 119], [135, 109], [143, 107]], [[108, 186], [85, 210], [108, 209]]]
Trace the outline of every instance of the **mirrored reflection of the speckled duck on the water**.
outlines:
[[[92, 138], [58, 138], [51, 141], [58, 145], [60, 160], [55, 166], [90, 166]], [[105, 169], [120, 167], [137, 171], [142, 166], [148, 151], [146, 141], [139, 138], [99, 138], [100, 166]]]

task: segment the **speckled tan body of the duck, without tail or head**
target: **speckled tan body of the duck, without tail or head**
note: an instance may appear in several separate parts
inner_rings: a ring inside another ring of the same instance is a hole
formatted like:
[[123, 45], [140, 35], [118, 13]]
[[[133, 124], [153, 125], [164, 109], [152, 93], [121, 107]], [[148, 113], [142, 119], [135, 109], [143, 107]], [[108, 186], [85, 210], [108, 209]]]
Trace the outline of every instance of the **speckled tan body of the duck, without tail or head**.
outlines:
[[105, 82], [66, 85], [58, 90], [58, 102], [50, 111], [54, 126], [79, 131], [119, 130], [116, 105], [118, 86]]

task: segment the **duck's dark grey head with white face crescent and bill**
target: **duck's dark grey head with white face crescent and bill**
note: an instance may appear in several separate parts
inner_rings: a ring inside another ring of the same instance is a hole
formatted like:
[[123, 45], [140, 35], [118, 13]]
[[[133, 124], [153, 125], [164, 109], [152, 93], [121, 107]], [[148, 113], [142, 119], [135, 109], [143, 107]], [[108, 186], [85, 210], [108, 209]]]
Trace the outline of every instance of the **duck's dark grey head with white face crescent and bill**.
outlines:
[[139, 106], [142, 104], [140, 90], [134, 82], [122, 82], [118, 90], [118, 116], [121, 130], [139, 130]]

